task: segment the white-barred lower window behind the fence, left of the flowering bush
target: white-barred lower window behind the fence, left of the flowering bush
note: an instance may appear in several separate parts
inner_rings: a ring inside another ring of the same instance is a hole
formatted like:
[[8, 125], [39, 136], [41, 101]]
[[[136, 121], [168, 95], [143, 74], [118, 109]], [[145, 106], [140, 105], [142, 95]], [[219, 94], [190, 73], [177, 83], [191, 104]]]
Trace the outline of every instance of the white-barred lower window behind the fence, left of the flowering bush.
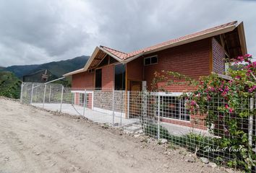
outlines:
[[185, 99], [179, 97], [161, 96], [160, 115], [177, 120], [189, 120], [189, 111], [185, 107]]

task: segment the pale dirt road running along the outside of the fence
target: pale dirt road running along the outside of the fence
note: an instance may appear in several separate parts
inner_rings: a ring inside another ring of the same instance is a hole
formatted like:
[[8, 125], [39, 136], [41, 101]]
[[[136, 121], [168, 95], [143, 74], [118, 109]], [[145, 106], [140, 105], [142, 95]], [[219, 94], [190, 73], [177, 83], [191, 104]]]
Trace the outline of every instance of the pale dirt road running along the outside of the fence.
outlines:
[[0, 172], [223, 172], [145, 141], [0, 98]]

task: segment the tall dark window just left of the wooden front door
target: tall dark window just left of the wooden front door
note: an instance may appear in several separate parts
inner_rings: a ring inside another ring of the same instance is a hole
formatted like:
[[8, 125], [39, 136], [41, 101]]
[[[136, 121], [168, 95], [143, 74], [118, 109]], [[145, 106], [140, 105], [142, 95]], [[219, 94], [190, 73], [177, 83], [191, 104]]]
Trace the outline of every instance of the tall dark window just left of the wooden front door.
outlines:
[[115, 66], [115, 89], [125, 90], [125, 66], [123, 64]]

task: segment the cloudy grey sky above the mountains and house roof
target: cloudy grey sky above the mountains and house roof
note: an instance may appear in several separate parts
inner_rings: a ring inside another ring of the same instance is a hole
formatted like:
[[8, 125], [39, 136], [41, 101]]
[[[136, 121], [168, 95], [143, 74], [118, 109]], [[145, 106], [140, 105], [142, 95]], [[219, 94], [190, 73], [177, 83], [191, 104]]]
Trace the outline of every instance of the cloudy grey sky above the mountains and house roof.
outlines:
[[0, 66], [124, 52], [226, 22], [244, 22], [256, 55], [254, 0], [0, 0]]

